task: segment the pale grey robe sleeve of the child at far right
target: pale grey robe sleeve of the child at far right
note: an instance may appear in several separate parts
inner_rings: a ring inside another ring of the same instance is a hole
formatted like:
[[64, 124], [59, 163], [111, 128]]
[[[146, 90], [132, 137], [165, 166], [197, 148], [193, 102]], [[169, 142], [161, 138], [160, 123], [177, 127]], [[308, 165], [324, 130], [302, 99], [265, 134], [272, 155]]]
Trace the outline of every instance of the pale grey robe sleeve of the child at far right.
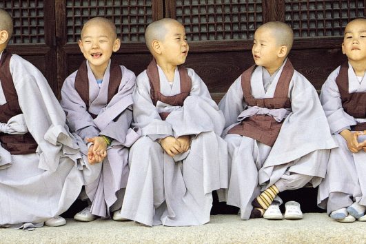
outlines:
[[340, 92], [336, 84], [336, 77], [338, 77], [340, 68], [336, 68], [321, 88], [321, 103], [332, 134], [338, 133], [344, 129], [349, 129], [351, 125], [356, 125], [353, 116], [350, 116], [343, 110], [342, 100], [340, 99]]

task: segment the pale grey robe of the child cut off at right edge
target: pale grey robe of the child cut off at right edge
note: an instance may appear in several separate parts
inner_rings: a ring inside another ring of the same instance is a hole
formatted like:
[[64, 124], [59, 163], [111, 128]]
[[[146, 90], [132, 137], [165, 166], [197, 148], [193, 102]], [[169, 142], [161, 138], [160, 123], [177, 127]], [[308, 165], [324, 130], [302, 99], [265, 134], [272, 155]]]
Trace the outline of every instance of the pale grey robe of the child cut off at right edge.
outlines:
[[[357, 153], [352, 153], [347, 148], [347, 142], [339, 134], [342, 130], [349, 129], [351, 125], [356, 125], [356, 122], [366, 122], [366, 118], [355, 119], [343, 110], [342, 101], [336, 77], [338, 77], [340, 67], [336, 68], [325, 81], [321, 90], [321, 103], [327, 119], [330, 130], [334, 139], [338, 143], [339, 148], [334, 148], [330, 151], [329, 162], [327, 166], [327, 175], [319, 185], [318, 190], [318, 205], [327, 207], [329, 194], [332, 192], [343, 192], [349, 194], [345, 196], [347, 199], [338, 201], [356, 201], [360, 205], [366, 205], [366, 152], [361, 150]], [[349, 64], [348, 69], [349, 92], [366, 92], [366, 75], [363, 76], [359, 83], [356, 74]], [[366, 136], [359, 136], [358, 141], [365, 141]], [[331, 209], [329, 211], [338, 210]], [[343, 206], [347, 207], [347, 206]], [[328, 211], [328, 212], [329, 212]]]

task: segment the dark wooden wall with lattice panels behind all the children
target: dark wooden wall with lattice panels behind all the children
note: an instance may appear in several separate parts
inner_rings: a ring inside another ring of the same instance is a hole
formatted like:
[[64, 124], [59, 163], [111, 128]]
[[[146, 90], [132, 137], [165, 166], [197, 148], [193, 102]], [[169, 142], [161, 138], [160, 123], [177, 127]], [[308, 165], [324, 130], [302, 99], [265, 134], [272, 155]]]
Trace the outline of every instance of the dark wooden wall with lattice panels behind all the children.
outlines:
[[83, 23], [96, 16], [114, 21], [122, 45], [114, 54], [139, 74], [151, 57], [143, 33], [156, 19], [172, 17], [185, 26], [190, 54], [185, 63], [207, 83], [216, 101], [254, 63], [252, 39], [258, 26], [284, 21], [295, 33], [289, 54], [294, 67], [320, 90], [343, 60], [343, 28], [365, 17], [366, 0], [28, 0], [0, 1], [12, 14], [14, 37], [8, 50], [45, 74], [59, 96], [65, 77], [83, 56], [77, 45]]

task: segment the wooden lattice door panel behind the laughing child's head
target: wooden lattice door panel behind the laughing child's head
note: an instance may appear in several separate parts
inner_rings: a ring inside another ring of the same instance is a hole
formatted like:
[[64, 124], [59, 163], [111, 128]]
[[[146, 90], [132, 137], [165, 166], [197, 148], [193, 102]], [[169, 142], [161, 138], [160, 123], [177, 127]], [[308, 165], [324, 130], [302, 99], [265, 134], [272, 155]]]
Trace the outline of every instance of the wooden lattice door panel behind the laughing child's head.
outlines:
[[[55, 0], [59, 89], [65, 77], [79, 68], [83, 55], [79, 50], [81, 28], [92, 17], [105, 17], [115, 23], [122, 43], [117, 54], [121, 65], [136, 74], [148, 64], [145, 28], [163, 18], [162, 0]], [[142, 62], [141, 62], [142, 61]]]

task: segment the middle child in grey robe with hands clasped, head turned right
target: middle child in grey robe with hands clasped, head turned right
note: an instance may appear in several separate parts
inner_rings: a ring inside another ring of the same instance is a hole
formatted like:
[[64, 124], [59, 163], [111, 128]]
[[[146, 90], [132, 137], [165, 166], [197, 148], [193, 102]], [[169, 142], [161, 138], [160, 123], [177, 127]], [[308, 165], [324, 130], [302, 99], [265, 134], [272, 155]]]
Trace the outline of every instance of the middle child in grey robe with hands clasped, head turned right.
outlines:
[[185, 62], [189, 45], [174, 19], [151, 23], [145, 41], [154, 59], [136, 79], [134, 126], [121, 214], [143, 225], [202, 225], [212, 191], [227, 186], [224, 119], [205, 83]]

